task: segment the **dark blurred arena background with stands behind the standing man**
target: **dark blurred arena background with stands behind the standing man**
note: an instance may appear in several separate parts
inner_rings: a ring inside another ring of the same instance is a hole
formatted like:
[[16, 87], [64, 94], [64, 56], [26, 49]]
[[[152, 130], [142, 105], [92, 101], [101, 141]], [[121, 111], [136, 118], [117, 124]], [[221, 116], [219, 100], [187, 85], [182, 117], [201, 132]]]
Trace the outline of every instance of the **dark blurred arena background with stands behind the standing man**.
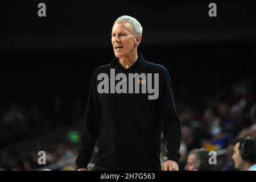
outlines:
[[[143, 27], [138, 51], [171, 73], [180, 169], [203, 147], [217, 151], [215, 170], [233, 170], [232, 140], [256, 139], [256, 6], [213, 1], [217, 17], [209, 17], [210, 2], [1, 1], [0, 169], [76, 169], [90, 76], [114, 58], [114, 20], [130, 15]], [[90, 168], [96, 160], [97, 147]]]

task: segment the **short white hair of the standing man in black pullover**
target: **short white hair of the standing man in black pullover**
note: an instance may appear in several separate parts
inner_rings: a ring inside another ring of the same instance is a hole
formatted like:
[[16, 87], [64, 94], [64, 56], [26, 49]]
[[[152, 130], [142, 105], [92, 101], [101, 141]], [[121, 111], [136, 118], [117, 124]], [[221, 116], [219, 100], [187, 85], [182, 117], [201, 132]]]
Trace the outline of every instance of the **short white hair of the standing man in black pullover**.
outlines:
[[123, 22], [130, 23], [131, 26], [133, 27], [134, 33], [136, 35], [142, 36], [142, 26], [141, 26], [141, 23], [139, 23], [137, 19], [135, 19], [131, 16], [123, 15], [123, 16], [120, 16], [117, 20], [115, 20], [115, 23], [123, 23]]

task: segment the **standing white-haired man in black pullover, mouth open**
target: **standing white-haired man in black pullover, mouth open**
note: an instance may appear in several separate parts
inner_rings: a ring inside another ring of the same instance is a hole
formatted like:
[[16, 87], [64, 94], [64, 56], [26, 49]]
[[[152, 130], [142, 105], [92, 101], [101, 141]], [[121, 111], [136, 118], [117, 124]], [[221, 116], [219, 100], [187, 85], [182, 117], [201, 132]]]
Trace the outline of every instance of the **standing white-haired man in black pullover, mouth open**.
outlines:
[[[121, 16], [112, 28], [114, 60], [93, 72], [76, 164], [87, 171], [98, 139], [93, 170], [160, 170], [160, 135], [167, 140], [165, 170], [178, 170], [180, 120], [169, 72], [143, 59], [137, 48], [142, 26]], [[152, 96], [154, 94], [154, 96]]]

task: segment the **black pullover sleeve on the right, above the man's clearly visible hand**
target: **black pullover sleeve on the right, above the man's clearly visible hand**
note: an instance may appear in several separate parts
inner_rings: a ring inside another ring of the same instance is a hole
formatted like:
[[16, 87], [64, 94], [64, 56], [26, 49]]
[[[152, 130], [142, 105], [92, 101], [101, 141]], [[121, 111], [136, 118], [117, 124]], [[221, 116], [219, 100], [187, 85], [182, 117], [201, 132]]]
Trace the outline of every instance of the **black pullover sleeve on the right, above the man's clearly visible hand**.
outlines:
[[181, 124], [177, 116], [170, 74], [167, 69], [159, 79], [158, 108], [163, 122], [163, 134], [167, 142], [168, 160], [179, 162]]

